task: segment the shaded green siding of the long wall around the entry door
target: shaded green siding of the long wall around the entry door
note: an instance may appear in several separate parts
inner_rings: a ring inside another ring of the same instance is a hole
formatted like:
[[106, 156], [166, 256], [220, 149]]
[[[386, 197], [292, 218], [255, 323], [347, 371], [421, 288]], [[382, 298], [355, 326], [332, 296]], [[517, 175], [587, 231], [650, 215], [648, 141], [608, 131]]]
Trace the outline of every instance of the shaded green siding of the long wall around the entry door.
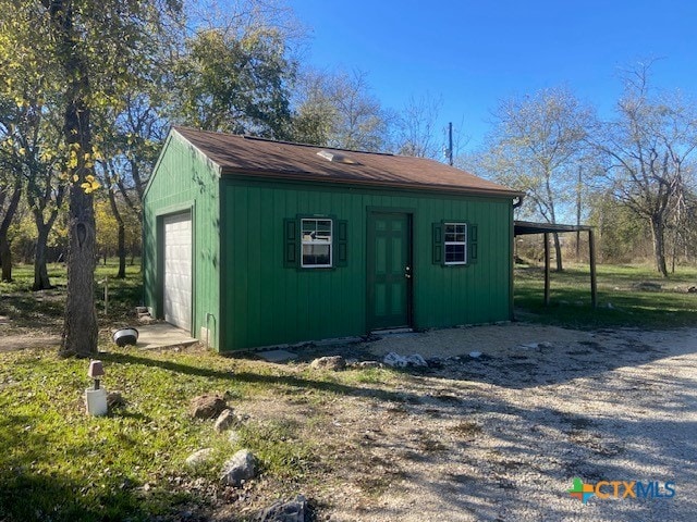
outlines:
[[[413, 215], [414, 327], [511, 319], [513, 221], [508, 198], [243, 177], [223, 178], [221, 198], [221, 350], [366, 334], [369, 210]], [[284, 265], [285, 220], [310, 214], [346, 221], [345, 266]], [[477, 225], [477, 263], [432, 262], [432, 224], [442, 220]]]

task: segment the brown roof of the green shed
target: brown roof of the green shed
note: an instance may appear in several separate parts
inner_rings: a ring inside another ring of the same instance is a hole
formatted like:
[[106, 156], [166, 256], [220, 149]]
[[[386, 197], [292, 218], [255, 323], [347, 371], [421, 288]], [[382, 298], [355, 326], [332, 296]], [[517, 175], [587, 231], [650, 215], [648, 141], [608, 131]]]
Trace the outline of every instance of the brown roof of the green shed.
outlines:
[[[454, 190], [511, 198], [522, 196], [522, 192], [516, 190], [424, 158], [339, 150], [187, 127], [174, 127], [173, 132], [183, 136], [219, 165], [221, 175], [252, 174], [298, 181]], [[320, 151], [329, 152], [323, 156], [333, 154], [333, 161], [318, 156]]]

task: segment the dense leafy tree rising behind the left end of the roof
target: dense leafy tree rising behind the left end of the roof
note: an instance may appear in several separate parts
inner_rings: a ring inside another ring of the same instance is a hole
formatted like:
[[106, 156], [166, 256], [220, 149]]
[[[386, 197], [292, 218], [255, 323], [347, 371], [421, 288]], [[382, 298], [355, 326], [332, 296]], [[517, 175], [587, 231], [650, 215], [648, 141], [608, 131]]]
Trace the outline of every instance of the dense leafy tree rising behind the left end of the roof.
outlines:
[[[240, 28], [236, 28], [240, 29]], [[172, 64], [173, 123], [285, 138], [295, 64], [274, 27], [209, 27], [188, 37]]]

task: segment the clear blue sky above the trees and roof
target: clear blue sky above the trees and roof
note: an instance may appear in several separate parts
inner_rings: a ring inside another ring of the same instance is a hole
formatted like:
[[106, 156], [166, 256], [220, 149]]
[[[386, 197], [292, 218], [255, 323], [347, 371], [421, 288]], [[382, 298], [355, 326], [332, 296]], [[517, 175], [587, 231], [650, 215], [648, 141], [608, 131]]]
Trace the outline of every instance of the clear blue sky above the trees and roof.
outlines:
[[442, 97], [442, 126], [476, 148], [499, 100], [564, 85], [611, 115], [619, 71], [660, 59], [653, 85], [697, 90], [693, 0], [289, 0], [311, 65], [367, 73], [383, 105]]

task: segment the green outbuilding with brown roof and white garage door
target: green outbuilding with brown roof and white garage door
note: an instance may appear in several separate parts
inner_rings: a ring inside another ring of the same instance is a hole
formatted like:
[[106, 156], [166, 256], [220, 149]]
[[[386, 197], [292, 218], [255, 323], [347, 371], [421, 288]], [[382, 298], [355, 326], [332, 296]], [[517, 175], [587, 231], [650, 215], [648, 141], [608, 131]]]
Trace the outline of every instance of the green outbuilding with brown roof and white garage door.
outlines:
[[522, 195], [437, 161], [171, 129], [145, 303], [220, 351], [513, 319]]

